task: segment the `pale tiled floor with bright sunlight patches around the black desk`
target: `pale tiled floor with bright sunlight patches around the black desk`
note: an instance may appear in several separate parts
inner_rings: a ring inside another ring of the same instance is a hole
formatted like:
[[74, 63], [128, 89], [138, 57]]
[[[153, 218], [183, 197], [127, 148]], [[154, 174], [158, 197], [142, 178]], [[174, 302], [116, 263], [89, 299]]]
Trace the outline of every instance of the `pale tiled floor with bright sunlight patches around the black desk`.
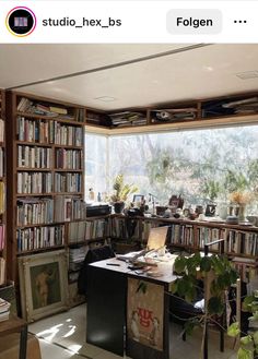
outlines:
[[[28, 331], [39, 338], [42, 359], [121, 359], [85, 343], [85, 321], [86, 304], [82, 304], [31, 324]], [[187, 359], [201, 358], [201, 332], [196, 331], [186, 342], [181, 340], [180, 334], [181, 327], [172, 323], [169, 358], [181, 359], [186, 355]], [[209, 359], [236, 358], [232, 339], [225, 338], [226, 349], [220, 352], [218, 333], [210, 331], [209, 335]]]

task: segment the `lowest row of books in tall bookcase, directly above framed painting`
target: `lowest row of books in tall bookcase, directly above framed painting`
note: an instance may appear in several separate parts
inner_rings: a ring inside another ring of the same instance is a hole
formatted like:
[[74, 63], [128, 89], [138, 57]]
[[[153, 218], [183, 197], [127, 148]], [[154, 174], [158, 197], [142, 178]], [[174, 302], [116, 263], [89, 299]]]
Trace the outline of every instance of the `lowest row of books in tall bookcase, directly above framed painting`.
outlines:
[[64, 243], [64, 226], [31, 227], [16, 230], [17, 252], [38, 250]]

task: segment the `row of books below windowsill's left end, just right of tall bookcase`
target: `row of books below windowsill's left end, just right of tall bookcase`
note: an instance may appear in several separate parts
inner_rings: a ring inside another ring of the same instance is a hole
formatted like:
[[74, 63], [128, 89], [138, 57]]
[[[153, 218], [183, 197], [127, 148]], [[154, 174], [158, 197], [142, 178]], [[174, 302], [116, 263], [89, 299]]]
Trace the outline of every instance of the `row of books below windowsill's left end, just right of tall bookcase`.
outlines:
[[108, 235], [108, 223], [105, 219], [69, 223], [69, 243], [101, 239]]

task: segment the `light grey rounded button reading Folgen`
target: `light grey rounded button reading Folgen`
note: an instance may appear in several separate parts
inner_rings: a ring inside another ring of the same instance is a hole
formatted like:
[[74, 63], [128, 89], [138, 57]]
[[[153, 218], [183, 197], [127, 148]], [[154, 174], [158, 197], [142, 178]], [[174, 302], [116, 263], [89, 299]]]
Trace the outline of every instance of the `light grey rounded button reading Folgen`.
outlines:
[[179, 34], [218, 34], [222, 29], [222, 13], [219, 10], [175, 9], [166, 15], [168, 33]]

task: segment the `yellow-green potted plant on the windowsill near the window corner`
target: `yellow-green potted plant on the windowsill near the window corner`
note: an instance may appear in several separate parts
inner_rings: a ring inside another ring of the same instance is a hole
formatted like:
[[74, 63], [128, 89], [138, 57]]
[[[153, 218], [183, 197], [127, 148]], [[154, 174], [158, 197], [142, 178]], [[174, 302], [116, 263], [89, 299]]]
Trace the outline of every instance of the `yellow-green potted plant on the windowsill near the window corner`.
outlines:
[[125, 183], [124, 175], [118, 173], [115, 177], [113, 189], [115, 193], [112, 194], [110, 201], [114, 205], [115, 213], [121, 213], [125, 208], [125, 202], [127, 201], [128, 196], [132, 193], [138, 191], [138, 188], [132, 183]]

